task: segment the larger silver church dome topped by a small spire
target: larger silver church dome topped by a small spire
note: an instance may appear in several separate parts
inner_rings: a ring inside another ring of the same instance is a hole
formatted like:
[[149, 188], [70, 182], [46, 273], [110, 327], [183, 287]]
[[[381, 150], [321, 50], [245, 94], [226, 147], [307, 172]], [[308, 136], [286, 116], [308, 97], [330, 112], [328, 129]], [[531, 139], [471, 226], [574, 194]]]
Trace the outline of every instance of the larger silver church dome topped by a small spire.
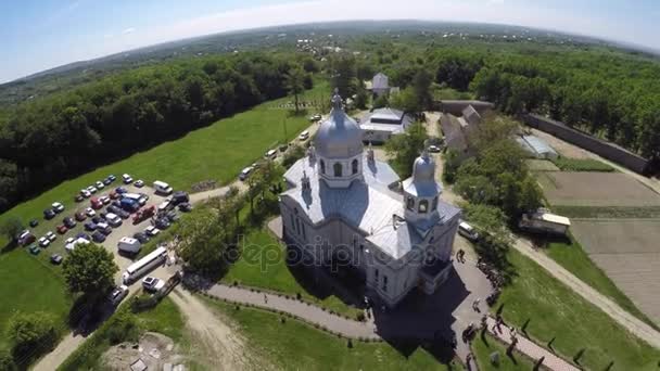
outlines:
[[332, 98], [330, 117], [316, 133], [316, 152], [325, 158], [348, 158], [363, 152], [363, 133], [357, 123], [342, 107], [339, 94]]

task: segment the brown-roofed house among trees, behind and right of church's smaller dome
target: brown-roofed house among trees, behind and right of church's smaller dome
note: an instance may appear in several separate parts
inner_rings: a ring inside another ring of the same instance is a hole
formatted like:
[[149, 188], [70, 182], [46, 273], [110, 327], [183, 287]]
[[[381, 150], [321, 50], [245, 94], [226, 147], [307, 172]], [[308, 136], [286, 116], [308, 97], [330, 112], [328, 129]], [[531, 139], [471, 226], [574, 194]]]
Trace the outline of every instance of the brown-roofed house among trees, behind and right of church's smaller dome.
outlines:
[[470, 133], [479, 130], [481, 115], [474, 107], [468, 105], [462, 110], [462, 116], [456, 117], [443, 113], [440, 116], [440, 126], [444, 135], [445, 145], [459, 154], [459, 158], [470, 155]]

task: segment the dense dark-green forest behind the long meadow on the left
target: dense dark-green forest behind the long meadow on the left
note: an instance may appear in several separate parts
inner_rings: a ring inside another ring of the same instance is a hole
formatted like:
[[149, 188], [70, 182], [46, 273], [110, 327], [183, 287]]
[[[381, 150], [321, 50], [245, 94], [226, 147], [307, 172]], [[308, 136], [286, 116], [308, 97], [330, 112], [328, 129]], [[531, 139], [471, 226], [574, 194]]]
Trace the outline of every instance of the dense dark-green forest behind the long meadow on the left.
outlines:
[[[243, 53], [125, 71], [0, 114], [0, 212], [66, 177], [283, 97], [300, 55]], [[304, 76], [304, 87], [312, 78]]]

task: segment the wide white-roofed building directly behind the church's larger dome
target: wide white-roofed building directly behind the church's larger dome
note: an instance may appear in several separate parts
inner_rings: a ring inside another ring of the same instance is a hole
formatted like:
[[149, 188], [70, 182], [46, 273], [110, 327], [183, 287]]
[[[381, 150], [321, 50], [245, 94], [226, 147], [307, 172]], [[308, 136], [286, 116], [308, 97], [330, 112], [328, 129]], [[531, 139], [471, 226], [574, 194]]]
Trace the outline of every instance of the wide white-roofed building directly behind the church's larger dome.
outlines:
[[406, 131], [412, 124], [412, 117], [403, 111], [393, 108], [373, 110], [360, 121], [363, 141], [371, 143], [383, 143], [392, 136]]

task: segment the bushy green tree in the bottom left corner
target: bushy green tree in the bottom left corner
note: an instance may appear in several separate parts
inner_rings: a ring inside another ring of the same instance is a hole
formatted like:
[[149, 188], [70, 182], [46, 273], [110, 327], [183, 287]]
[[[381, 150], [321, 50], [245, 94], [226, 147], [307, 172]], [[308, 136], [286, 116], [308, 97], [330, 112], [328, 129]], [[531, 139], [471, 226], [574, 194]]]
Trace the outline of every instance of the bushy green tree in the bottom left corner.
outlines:
[[51, 314], [14, 314], [8, 324], [8, 337], [14, 359], [36, 356], [54, 346], [59, 331]]

